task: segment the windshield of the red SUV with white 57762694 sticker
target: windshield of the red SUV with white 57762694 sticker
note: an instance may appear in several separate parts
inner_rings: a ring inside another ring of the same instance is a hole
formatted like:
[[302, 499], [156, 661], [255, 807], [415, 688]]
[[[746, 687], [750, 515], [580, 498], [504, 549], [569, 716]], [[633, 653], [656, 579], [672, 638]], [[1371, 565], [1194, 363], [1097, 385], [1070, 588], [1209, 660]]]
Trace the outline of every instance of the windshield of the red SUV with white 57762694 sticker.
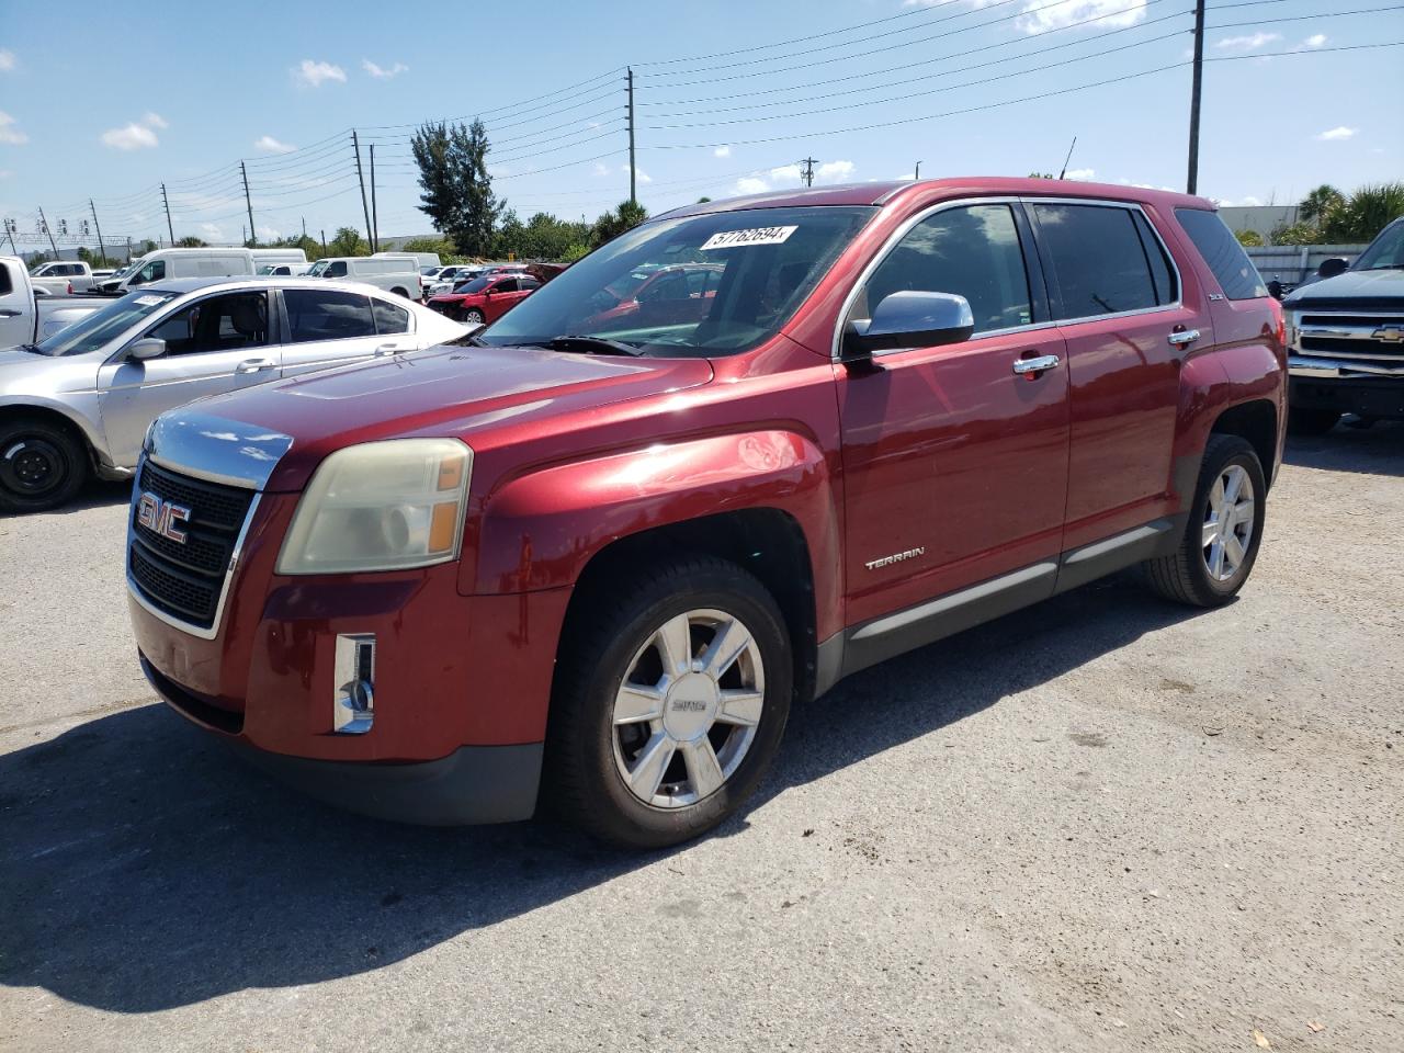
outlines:
[[875, 213], [767, 208], [644, 223], [563, 271], [477, 340], [501, 347], [598, 337], [660, 357], [746, 351], [789, 322]]

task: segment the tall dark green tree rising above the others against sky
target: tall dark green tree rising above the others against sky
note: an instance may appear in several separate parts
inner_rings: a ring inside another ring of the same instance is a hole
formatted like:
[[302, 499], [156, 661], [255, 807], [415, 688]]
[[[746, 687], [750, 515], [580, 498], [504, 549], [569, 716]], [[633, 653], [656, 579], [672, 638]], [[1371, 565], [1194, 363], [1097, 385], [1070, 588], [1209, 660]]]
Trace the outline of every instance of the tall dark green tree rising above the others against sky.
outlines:
[[504, 202], [493, 194], [487, 171], [487, 128], [428, 122], [410, 140], [420, 168], [420, 211], [448, 234], [465, 256], [486, 256]]

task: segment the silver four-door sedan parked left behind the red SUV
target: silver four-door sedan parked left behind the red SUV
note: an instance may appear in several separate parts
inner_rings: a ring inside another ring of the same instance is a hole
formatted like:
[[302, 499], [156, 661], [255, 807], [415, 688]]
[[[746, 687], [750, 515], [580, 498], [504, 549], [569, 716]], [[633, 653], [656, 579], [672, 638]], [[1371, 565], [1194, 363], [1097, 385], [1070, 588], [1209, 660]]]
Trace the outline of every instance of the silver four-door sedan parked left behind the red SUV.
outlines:
[[[156, 282], [0, 351], [0, 511], [129, 479], [147, 425], [192, 399], [441, 344], [466, 330], [365, 285]], [[209, 437], [206, 437], [209, 438]]]

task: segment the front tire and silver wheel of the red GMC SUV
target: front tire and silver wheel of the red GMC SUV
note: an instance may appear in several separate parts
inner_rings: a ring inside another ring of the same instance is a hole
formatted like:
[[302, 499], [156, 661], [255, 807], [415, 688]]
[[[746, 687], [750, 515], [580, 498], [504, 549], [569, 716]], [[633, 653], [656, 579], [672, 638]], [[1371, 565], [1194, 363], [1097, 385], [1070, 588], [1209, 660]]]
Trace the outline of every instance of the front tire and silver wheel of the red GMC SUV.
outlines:
[[[789, 635], [765, 587], [726, 560], [677, 557], [616, 581], [567, 623], [543, 804], [601, 841], [663, 848], [712, 830], [760, 783], [789, 716]], [[734, 650], [717, 656], [720, 675], [703, 665], [713, 644]]]

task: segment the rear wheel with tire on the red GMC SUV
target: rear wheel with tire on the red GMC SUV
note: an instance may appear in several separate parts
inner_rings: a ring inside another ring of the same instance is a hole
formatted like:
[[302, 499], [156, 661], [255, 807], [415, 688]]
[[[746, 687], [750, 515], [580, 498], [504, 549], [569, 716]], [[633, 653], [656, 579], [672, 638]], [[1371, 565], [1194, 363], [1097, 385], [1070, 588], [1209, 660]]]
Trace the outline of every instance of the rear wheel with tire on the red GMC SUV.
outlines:
[[[1216, 490], [1220, 483], [1226, 486]], [[1251, 511], [1243, 505], [1244, 486]], [[1233, 600], [1258, 559], [1266, 493], [1254, 448], [1237, 435], [1210, 435], [1179, 546], [1174, 555], [1144, 563], [1151, 587], [1167, 600], [1192, 607], [1221, 607]], [[1230, 505], [1234, 514], [1226, 535], [1223, 508], [1230, 497], [1237, 500]], [[1226, 536], [1233, 541], [1226, 542]]]

